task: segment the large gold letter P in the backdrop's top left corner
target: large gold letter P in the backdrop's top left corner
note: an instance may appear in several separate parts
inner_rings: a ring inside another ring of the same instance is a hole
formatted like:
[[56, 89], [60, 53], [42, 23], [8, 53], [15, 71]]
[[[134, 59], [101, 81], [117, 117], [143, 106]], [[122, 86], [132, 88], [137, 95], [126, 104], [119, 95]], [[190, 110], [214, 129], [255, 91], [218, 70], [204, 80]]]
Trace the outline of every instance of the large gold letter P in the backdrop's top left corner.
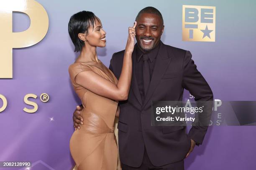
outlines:
[[[13, 11], [26, 13], [30, 27], [13, 32]], [[0, 78], [13, 78], [13, 48], [40, 42], [48, 31], [49, 19], [44, 7], [35, 0], [0, 0]]]

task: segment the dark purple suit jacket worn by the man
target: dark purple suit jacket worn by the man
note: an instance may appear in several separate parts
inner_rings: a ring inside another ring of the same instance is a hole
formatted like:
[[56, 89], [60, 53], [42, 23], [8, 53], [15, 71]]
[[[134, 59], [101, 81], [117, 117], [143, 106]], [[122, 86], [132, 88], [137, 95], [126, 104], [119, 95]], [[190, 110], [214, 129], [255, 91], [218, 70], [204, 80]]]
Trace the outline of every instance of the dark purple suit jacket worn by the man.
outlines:
[[[151, 101], [182, 101], [184, 88], [195, 100], [213, 100], [212, 90], [197, 70], [189, 51], [160, 42], [151, 83], [143, 104], [133, 70], [128, 100], [120, 101], [118, 144], [120, 161], [131, 167], [142, 163], [144, 145], [154, 166], [174, 163], [185, 158], [190, 138], [202, 144], [207, 127], [151, 126]], [[124, 50], [113, 54], [110, 70], [119, 79]], [[133, 63], [135, 54], [132, 55]], [[134, 67], [133, 67], [134, 68]]]

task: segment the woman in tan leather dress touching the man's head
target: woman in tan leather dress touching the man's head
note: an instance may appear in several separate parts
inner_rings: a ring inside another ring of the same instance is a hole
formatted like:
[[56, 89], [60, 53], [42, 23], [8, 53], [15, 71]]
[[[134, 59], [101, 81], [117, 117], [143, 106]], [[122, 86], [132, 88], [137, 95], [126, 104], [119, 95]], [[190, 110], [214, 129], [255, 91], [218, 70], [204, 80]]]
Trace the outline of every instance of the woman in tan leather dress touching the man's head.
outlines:
[[105, 47], [106, 32], [92, 12], [81, 11], [69, 20], [69, 35], [80, 51], [69, 66], [74, 90], [82, 101], [84, 124], [70, 139], [70, 152], [78, 170], [116, 170], [118, 150], [114, 119], [118, 100], [127, 100], [131, 85], [136, 22], [128, 29], [128, 40], [119, 80], [98, 58], [96, 47]]

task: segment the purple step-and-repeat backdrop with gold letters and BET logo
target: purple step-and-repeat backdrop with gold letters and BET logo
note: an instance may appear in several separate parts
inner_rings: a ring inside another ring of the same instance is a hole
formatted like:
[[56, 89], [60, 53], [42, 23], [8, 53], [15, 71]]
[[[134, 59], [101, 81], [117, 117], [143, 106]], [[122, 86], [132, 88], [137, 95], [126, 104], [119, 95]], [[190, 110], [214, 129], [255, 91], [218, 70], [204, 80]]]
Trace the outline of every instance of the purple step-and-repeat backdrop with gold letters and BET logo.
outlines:
[[[163, 15], [162, 42], [192, 53], [215, 100], [256, 100], [253, 0], [1, 0], [0, 161], [28, 161], [32, 170], [74, 167], [69, 140], [81, 102], [69, 80], [68, 67], [79, 55], [68, 34], [69, 18], [82, 10], [100, 18], [107, 45], [97, 55], [108, 67], [147, 6]], [[184, 100], [192, 98], [184, 92]], [[203, 145], [184, 160], [185, 169], [252, 170], [255, 134], [255, 126], [212, 122]]]

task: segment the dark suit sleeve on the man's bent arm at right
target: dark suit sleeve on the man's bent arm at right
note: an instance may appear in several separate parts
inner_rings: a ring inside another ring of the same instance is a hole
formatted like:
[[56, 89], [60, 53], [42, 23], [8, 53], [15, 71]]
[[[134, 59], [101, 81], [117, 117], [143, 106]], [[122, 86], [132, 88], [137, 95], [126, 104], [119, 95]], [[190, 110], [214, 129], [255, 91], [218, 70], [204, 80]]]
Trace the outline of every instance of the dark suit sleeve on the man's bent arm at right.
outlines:
[[[207, 121], [210, 121], [210, 117], [212, 114], [212, 101], [213, 101], [213, 94], [210, 86], [206, 82], [205, 78], [201, 75], [201, 73], [197, 70], [197, 66], [195, 65], [194, 61], [191, 59], [192, 54], [189, 51], [186, 51], [184, 55], [183, 61], [183, 80], [182, 86], [187, 89], [190, 94], [195, 97], [195, 101], [205, 102], [207, 103], [204, 107], [203, 114], [201, 113], [200, 116], [206, 116]], [[199, 113], [200, 114], [200, 113]], [[197, 116], [197, 115], [196, 115]], [[196, 118], [197, 119], [197, 118]], [[206, 120], [206, 119], [205, 119]], [[206, 125], [193, 125], [192, 128], [189, 130], [188, 136], [194, 140], [197, 145], [202, 144], [202, 141], [205, 137], [207, 132], [208, 124]]]

